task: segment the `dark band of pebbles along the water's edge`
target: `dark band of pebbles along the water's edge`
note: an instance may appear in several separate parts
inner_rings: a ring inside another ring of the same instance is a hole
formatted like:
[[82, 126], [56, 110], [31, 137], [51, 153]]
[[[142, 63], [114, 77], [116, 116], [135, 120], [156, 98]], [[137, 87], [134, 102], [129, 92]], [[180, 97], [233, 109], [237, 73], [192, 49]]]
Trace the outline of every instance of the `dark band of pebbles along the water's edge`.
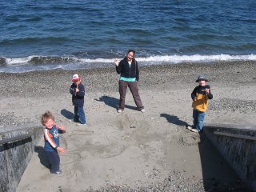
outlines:
[[[150, 88], [150, 85], [165, 84], [168, 81], [171, 83], [193, 83], [194, 79], [199, 74], [205, 74], [210, 82], [229, 81], [237, 82], [237, 79], [242, 78], [245, 82], [256, 82], [256, 61], [246, 62], [214, 62], [214, 63], [178, 63], [170, 65], [155, 65], [140, 67], [140, 86], [142, 88]], [[244, 72], [242, 72], [244, 71]], [[22, 86], [33, 86], [38, 89], [36, 92], [42, 91], [46, 86], [54, 86], [55, 89], [62, 90], [71, 82], [73, 74], [78, 73], [82, 76], [83, 82], [88, 86], [87, 90], [116, 90], [118, 74], [115, 67], [94, 68], [84, 70], [35, 70], [26, 73], [0, 73], [0, 86], [11, 89], [10, 94], [18, 94]], [[225, 74], [224, 74], [225, 73]], [[242, 74], [246, 73], [246, 74]], [[249, 76], [250, 78], [246, 78]], [[36, 78], [35, 78], [36, 77]], [[58, 82], [57, 82], [58, 79]], [[106, 83], [108, 83], [106, 85]], [[16, 87], [15, 87], [16, 86]], [[36, 87], [38, 86], [38, 88]], [[17, 89], [14, 91], [14, 88]], [[40, 90], [41, 88], [41, 90]], [[32, 89], [33, 91], [33, 89]], [[24, 92], [18, 94], [22, 96]]]

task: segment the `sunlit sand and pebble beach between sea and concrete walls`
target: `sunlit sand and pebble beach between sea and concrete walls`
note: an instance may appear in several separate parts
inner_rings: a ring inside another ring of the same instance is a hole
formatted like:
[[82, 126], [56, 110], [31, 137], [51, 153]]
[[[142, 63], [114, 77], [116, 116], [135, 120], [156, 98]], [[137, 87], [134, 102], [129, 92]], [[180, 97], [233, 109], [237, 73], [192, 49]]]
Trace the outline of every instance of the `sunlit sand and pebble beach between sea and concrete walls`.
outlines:
[[[140, 68], [139, 92], [146, 113], [130, 91], [118, 114], [118, 74], [113, 68], [0, 74], [0, 129], [40, 123], [50, 110], [66, 127], [61, 175], [46, 168], [36, 147], [17, 191], [222, 191], [244, 189], [238, 176], [192, 123], [190, 93], [205, 74], [214, 95], [206, 122], [254, 125], [256, 62], [182, 63]], [[69, 87], [78, 73], [86, 87], [87, 125], [73, 117]]]

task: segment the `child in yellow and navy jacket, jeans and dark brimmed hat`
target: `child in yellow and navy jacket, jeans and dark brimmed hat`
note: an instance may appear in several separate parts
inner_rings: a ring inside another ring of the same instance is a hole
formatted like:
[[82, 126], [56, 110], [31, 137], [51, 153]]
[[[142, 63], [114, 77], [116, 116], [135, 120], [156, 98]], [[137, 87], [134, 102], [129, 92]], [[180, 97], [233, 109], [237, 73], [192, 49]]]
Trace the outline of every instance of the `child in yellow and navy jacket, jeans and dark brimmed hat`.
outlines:
[[191, 93], [193, 100], [193, 127], [188, 126], [187, 128], [193, 132], [199, 133], [202, 131], [208, 100], [213, 98], [213, 94], [210, 92], [210, 86], [206, 85], [206, 82], [208, 82], [207, 78], [201, 75], [198, 76], [195, 82], [198, 82], [199, 86], [196, 86]]

